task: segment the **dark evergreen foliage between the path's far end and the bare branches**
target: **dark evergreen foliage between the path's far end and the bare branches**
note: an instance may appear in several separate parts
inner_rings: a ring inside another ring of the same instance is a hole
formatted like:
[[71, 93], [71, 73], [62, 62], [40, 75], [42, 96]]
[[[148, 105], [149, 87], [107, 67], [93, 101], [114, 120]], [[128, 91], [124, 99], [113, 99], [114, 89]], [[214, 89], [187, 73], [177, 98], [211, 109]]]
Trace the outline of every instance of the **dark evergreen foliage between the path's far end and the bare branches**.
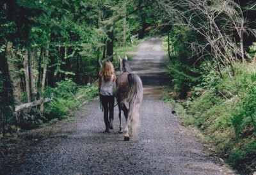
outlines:
[[[165, 42], [167, 39], [165, 38]], [[188, 26], [173, 26], [170, 30], [170, 52], [173, 56], [168, 65], [168, 74], [173, 77], [173, 88], [180, 93], [180, 98], [185, 98], [191, 88], [194, 88], [193, 92], [198, 96], [202, 89], [209, 86], [209, 79], [213, 83], [216, 78], [213, 70], [212, 75], [206, 74], [208, 77], [204, 77], [204, 72], [209, 71], [206, 70], [207, 63], [193, 55], [189, 44], [197, 42], [195, 31]]]

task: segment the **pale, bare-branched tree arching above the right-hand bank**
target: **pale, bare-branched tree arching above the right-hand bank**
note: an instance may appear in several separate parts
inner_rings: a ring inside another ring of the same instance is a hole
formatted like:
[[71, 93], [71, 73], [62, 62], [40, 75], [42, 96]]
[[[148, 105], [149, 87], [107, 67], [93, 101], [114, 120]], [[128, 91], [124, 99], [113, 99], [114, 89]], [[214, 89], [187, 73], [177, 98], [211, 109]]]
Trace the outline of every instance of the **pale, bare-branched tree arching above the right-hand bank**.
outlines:
[[[240, 59], [244, 62], [243, 33], [247, 31], [255, 35], [255, 31], [244, 27], [246, 20], [239, 4], [230, 0], [207, 3], [200, 0], [170, 3], [159, 0], [158, 3], [166, 15], [171, 17], [168, 25], [179, 25], [180, 29], [186, 26], [188, 33], [193, 31], [196, 34], [193, 42], [188, 41], [194, 56], [211, 56], [218, 63], [218, 67], [230, 66], [233, 74], [234, 61]], [[234, 35], [238, 36], [238, 41]]]

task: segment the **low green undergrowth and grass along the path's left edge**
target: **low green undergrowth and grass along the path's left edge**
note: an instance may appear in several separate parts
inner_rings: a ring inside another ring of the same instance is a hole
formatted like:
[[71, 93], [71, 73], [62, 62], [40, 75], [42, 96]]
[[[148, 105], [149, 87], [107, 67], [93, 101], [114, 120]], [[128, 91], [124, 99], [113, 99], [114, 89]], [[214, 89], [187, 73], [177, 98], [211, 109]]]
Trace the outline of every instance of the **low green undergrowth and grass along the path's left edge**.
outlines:
[[[125, 47], [115, 47], [115, 52], [122, 58], [127, 55], [128, 60], [131, 61], [134, 52], [138, 49], [142, 40], [136, 40], [132, 45], [127, 42]], [[113, 58], [115, 67], [118, 65], [118, 59]], [[93, 77], [97, 77], [95, 70], [93, 70]], [[0, 72], [1, 75], [1, 72]], [[1, 78], [1, 77], [0, 77]], [[0, 79], [0, 84], [3, 80]], [[0, 89], [0, 92], [2, 89]], [[44, 103], [44, 112], [40, 112], [38, 107], [31, 109], [22, 109], [17, 112], [16, 116], [10, 115], [6, 121], [7, 135], [15, 133], [19, 128], [22, 130], [30, 130], [38, 128], [40, 125], [51, 121], [52, 119], [65, 119], [74, 116], [74, 111], [79, 109], [84, 102], [88, 102], [93, 97], [98, 95], [97, 84], [87, 84], [86, 86], [77, 85], [72, 79], [60, 80], [56, 82], [56, 88], [47, 87], [44, 90], [44, 98], [53, 95], [51, 102]], [[24, 95], [23, 95], [24, 96]], [[0, 99], [1, 101], [1, 99]], [[0, 109], [1, 110], [1, 109]], [[0, 124], [2, 125], [0, 117]], [[0, 130], [1, 133], [1, 130]], [[1, 139], [0, 134], [0, 139]]]

